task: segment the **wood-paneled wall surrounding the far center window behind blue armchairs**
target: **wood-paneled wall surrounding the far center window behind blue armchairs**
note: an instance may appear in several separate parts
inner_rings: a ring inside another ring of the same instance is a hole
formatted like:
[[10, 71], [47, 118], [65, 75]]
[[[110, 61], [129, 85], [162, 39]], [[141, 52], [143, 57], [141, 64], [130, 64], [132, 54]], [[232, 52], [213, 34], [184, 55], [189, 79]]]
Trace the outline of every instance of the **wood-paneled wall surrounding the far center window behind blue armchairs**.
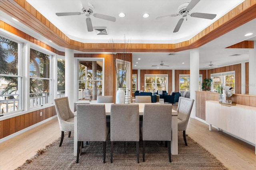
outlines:
[[172, 91], [172, 70], [140, 70], [140, 90], [143, 91], [145, 90], [145, 74], [168, 74], [168, 94], [170, 94]]

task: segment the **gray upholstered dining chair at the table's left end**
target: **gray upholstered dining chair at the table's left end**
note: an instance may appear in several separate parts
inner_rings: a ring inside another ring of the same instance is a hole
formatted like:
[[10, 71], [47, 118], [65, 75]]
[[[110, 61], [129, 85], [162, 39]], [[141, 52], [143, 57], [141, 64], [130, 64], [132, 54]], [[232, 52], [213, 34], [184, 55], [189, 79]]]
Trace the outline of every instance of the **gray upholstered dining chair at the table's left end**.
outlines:
[[74, 113], [70, 110], [68, 97], [54, 99], [54, 105], [61, 130], [60, 147], [63, 142], [64, 132], [68, 131], [68, 137], [74, 131]]

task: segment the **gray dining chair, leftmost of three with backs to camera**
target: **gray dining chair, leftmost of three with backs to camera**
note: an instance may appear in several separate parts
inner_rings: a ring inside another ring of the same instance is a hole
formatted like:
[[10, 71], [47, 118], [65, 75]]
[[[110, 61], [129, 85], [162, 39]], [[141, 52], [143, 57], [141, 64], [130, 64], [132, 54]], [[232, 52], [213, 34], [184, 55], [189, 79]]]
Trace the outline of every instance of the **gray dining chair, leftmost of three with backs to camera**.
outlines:
[[103, 163], [106, 162], [106, 141], [110, 128], [106, 125], [104, 104], [78, 104], [77, 113], [77, 154], [79, 161], [83, 141], [100, 141], [103, 145]]

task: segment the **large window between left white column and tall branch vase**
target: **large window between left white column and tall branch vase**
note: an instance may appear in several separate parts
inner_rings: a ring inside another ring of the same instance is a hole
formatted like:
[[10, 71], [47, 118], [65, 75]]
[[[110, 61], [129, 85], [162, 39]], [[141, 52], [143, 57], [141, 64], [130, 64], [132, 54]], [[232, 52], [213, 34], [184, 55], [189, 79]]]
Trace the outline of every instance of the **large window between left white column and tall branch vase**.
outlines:
[[103, 61], [79, 61], [78, 100], [97, 100], [102, 95]]

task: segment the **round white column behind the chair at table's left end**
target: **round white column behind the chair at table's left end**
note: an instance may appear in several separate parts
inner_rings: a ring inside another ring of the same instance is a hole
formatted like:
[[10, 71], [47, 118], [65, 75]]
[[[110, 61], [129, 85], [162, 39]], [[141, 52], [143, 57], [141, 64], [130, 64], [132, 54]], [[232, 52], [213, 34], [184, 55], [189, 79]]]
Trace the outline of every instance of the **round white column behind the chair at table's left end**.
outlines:
[[74, 111], [74, 65], [74, 50], [65, 48], [65, 96], [71, 111]]

